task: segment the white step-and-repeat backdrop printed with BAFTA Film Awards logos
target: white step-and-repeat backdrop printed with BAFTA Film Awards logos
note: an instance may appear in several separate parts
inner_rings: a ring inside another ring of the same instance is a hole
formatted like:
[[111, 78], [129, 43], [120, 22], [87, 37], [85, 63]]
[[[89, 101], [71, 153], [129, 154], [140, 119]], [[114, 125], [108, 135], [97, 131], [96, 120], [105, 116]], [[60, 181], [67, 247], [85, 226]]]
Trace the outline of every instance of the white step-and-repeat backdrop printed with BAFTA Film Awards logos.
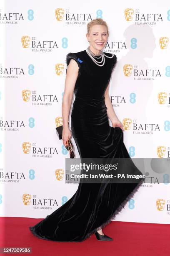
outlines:
[[[132, 159], [144, 158], [147, 174], [114, 220], [170, 223], [166, 0], [0, 3], [0, 216], [45, 218], [77, 190], [76, 182], [65, 184], [65, 158], [70, 156], [56, 127], [62, 124], [66, 55], [87, 49], [86, 26], [95, 18], [109, 26], [104, 51], [117, 56], [109, 93], [125, 128], [124, 143]], [[165, 166], [153, 175], [148, 158], [164, 158]]]

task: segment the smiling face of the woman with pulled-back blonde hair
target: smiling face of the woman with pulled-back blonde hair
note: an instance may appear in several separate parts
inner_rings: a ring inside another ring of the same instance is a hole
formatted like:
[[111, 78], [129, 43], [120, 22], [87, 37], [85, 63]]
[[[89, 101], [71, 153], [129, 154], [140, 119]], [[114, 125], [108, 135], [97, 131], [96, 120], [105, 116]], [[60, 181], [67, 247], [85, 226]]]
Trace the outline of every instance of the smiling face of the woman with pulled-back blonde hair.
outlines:
[[90, 40], [90, 46], [101, 51], [107, 44], [107, 28], [105, 25], [94, 25], [91, 27], [90, 34], [86, 34], [87, 40]]

